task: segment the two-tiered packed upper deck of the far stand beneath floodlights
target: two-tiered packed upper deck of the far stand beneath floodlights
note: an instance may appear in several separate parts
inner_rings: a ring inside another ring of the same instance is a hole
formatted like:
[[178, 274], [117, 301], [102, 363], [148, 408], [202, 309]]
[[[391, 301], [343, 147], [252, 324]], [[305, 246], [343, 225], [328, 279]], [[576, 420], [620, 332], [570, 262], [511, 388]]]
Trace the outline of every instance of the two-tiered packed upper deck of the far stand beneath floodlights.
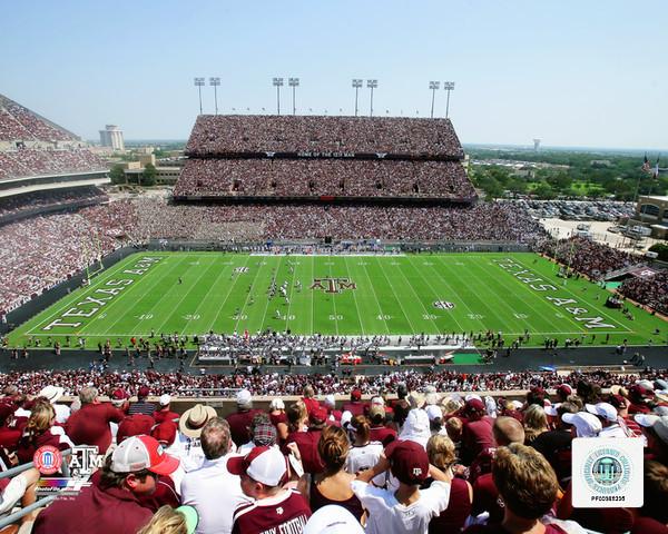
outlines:
[[200, 116], [187, 152], [178, 199], [475, 199], [448, 119]]

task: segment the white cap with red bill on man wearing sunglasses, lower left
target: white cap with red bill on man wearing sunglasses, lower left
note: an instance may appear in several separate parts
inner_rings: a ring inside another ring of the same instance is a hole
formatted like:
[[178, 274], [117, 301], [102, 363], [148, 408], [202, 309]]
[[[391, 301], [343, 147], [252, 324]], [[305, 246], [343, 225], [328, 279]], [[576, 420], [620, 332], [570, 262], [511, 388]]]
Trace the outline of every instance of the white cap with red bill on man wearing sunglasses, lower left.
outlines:
[[137, 473], [148, 469], [158, 475], [170, 475], [178, 467], [178, 458], [163, 451], [150, 436], [131, 436], [124, 439], [111, 455], [114, 473]]

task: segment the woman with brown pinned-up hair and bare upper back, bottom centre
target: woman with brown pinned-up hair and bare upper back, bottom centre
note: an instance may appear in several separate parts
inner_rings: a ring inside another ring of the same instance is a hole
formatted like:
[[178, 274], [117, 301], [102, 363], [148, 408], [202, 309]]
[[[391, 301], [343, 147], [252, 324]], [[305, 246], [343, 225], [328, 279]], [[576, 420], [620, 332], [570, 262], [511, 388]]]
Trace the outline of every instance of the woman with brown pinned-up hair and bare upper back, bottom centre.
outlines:
[[317, 473], [311, 483], [311, 510], [315, 512], [328, 504], [347, 510], [357, 521], [364, 510], [353, 493], [351, 482], [355, 475], [346, 473], [344, 466], [350, 451], [350, 442], [345, 431], [337, 426], [326, 426], [317, 443], [317, 452], [325, 464], [325, 471]]

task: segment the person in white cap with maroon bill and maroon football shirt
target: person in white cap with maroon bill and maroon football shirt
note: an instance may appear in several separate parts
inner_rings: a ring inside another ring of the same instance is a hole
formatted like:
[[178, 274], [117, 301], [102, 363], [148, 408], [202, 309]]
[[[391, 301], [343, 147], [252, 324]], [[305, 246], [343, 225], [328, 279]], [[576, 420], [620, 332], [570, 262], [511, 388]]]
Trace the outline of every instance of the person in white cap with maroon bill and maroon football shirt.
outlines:
[[227, 471], [242, 477], [242, 491], [255, 501], [234, 513], [233, 534], [285, 532], [301, 534], [311, 508], [299, 492], [284, 490], [287, 459], [275, 447], [255, 447], [227, 461]]

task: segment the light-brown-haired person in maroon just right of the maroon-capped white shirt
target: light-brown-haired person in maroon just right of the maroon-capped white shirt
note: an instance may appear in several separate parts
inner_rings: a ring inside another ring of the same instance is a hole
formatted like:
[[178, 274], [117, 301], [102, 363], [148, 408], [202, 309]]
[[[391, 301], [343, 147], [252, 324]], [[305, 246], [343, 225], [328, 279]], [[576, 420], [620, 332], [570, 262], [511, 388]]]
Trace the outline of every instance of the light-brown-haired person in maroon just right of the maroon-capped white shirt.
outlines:
[[[436, 466], [443, 473], [452, 471], [456, 455], [454, 443], [448, 436], [435, 434], [426, 442], [426, 454], [429, 463]], [[424, 481], [422, 488], [430, 487], [433, 478]], [[450, 501], [448, 507], [441, 512], [441, 515], [434, 517], [429, 524], [430, 533], [439, 532], [460, 532], [466, 517], [471, 514], [473, 503], [473, 488], [463, 478], [453, 477], [450, 483]]]

